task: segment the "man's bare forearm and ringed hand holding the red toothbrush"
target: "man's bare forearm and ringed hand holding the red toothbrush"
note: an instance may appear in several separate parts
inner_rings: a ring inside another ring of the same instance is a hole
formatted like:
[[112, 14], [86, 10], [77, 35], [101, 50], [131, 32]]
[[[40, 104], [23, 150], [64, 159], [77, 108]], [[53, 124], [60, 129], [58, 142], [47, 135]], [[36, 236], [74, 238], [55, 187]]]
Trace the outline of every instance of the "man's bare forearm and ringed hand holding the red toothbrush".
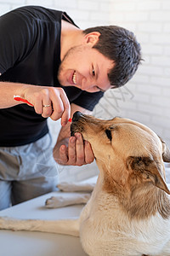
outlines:
[[[70, 103], [62, 88], [0, 82], [0, 108], [10, 108], [23, 103], [14, 101], [14, 96], [20, 96], [30, 102], [35, 112], [44, 118], [61, 118], [61, 125], [65, 125], [70, 117]], [[49, 107], [43, 108], [44, 105]]]

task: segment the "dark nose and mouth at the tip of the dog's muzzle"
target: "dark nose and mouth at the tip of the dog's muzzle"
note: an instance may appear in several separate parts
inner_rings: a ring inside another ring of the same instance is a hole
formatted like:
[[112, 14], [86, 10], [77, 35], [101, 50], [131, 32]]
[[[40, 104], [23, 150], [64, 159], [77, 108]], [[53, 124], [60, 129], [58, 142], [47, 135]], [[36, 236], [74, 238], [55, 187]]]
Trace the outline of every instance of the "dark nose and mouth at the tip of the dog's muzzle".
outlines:
[[75, 112], [72, 117], [71, 122], [71, 136], [74, 136], [76, 132], [82, 133], [83, 125], [81, 125], [80, 119], [82, 119], [83, 114], [79, 111]]

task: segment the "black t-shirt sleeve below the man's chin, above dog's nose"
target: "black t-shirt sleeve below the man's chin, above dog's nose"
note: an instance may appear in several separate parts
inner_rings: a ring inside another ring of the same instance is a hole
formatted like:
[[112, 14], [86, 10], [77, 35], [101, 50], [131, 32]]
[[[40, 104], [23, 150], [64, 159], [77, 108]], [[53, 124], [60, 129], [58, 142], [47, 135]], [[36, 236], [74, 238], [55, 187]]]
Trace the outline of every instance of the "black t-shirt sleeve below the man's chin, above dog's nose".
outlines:
[[73, 101], [73, 103], [77, 104], [78, 106], [88, 109], [90, 111], [94, 110], [95, 105], [99, 102], [99, 99], [104, 96], [104, 92], [97, 91], [97, 92], [87, 92], [85, 90], [82, 91], [81, 95], [77, 97]]

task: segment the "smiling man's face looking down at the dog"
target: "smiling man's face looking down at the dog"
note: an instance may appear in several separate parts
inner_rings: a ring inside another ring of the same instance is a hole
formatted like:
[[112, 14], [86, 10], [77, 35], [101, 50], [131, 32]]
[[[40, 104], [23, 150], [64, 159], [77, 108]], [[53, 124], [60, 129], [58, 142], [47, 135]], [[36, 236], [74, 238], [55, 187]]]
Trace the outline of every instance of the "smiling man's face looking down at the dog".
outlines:
[[107, 73], [114, 62], [89, 45], [71, 48], [59, 67], [59, 83], [76, 86], [88, 92], [105, 91], [111, 88]]

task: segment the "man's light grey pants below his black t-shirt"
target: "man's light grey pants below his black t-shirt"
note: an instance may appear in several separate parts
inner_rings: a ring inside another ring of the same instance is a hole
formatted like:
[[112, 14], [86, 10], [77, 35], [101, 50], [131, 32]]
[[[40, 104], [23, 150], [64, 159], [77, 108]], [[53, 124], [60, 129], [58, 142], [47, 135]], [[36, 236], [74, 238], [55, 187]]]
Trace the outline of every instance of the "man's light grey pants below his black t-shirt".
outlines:
[[0, 210], [57, 190], [49, 134], [20, 147], [0, 147]]

